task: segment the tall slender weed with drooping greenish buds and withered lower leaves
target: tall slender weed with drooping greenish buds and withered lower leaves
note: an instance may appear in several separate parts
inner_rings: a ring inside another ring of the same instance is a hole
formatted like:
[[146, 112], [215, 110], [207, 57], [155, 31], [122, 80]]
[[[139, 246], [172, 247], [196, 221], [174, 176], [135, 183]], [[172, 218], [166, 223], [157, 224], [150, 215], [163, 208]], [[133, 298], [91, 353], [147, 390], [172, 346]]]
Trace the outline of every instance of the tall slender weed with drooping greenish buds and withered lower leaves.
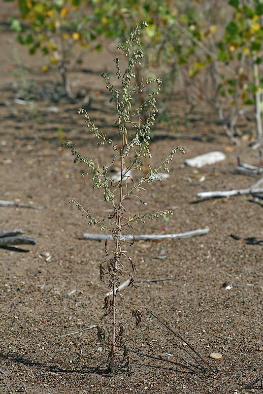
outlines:
[[[117, 125], [119, 129], [121, 148], [114, 145], [107, 134], [104, 134], [96, 127], [85, 109], [81, 108], [78, 110], [79, 114], [84, 115], [89, 131], [98, 138], [98, 146], [105, 144], [113, 150], [114, 159], [112, 163], [103, 164], [101, 166], [99, 163], [96, 164], [93, 159], [82, 157], [71, 142], [67, 141], [62, 143], [62, 145], [66, 145], [71, 149], [72, 155], [74, 156], [74, 163], [79, 161], [88, 166], [87, 171], [84, 171], [81, 175], [92, 175], [92, 187], [101, 189], [104, 200], [111, 203], [114, 209], [114, 213], [108, 216], [108, 221], [105, 221], [104, 219], [98, 219], [98, 215], [93, 214], [90, 208], [85, 208], [84, 205], [76, 199], [71, 198], [69, 201], [75, 204], [81, 212], [81, 215], [88, 219], [89, 225], [96, 225], [99, 227], [99, 230], [107, 230], [113, 238], [114, 247], [111, 253], [112, 257], [100, 263], [99, 266], [100, 280], [104, 281], [104, 279], [107, 278], [109, 287], [109, 293], [104, 298], [103, 317], [111, 316], [111, 329], [109, 330], [107, 327], [103, 326], [103, 320], [101, 320], [98, 326], [99, 339], [110, 343], [108, 371], [111, 375], [113, 375], [116, 370], [115, 358], [117, 343], [118, 346], [121, 346], [123, 349], [122, 364], [118, 365], [118, 368], [122, 367], [129, 370], [129, 357], [126, 342], [123, 337], [125, 328], [122, 323], [119, 323], [117, 327], [117, 303], [123, 300], [128, 302], [132, 308], [132, 316], [136, 320], [136, 325], [140, 323], [142, 316], [142, 312], [132, 305], [120, 293], [118, 288], [120, 279], [123, 275], [129, 277], [129, 286], [135, 287], [135, 263], [132, 258], [127, 255], [127, 251], [124, 248], [125, 239], [123, 238], [123, 234], [127, 231], [132, 233], [132, 226], [134, 224], [144, 223], [147, 219], [154, 219], [163, 215], [166, 217], [166, 215], [172, 215], [173, 213], [172, 210], [166, 209], [146, 214], [128, 214], [125, 203], [127, 199], [135, 197], [138, 198], [142, 204], [147, 205], [140, 197], [141, 192], [146, 191], [145, 186], [156, 180], [162, 181], [160, 171], [164, 170], [169, 172], [168, 165], [173, 159], [177, 149], [184, 153], [184, 148], [182, 147], [172, 149], [171, 152], [164, 157], [159, 166], [151, 168], [149, 165], [149, 171], [145, 176], [142, 167], [144, 159], [147, 157], [151, 158], [151, 152], [149, 150], [150, 132], [158, 113], [156, 97], [161, 91], [162, 81], [159, 78], [148, 78], [146, 80], [141, 79], [139, 84], [136, 83], [136, 74], [134, 70], [137, 66], [141, 65], [143, 58], [140, 42], [140, 31], [143, 26], [147, 26], [147, 23], [142, 22], [139, 26], [136, 26], [125, 44], [118, 45], [117, 47], [117, 49], [125, 53], [128, 62], [127, 68], [123, 72], [121, 70], [119, 58], [117, 56], [115, 58], [117, 68], [116, 75], [117, 80], [119, 80], [118, 84], [121, 82], [121, 89], [116, 88], [111, 83], [108, 74], [104, 72], [101, 74], [105, 79], [106, 88], [110, 92], [110, 101], [115, 101], [116, 104], [117, 120], [115, 121], [115, 125]], [[153, 85], [155, 85], [155, 88], [153, 88]], [[152, 91], [148, 95], [148, 98], [143, 103], [139, 102], [139, 104], [136, 105], [136, 96], [140, 95], [143, 89], [148, 86], [152, 87]], [[108, 170], [115, 161], [121, 163], [119, 180], [112, 180], [108, 175]], [[142, 176], [137, 177], [135, 170], [141, 172]], [[135, 171], [135, 175], [131, 176], [130, 174], [133, 171]], [[106, 255], [109, 255], [107, 241], [105, 242], [105, 251]], [[107, 335], [110, 335], [110, 338], [107, 338]]]

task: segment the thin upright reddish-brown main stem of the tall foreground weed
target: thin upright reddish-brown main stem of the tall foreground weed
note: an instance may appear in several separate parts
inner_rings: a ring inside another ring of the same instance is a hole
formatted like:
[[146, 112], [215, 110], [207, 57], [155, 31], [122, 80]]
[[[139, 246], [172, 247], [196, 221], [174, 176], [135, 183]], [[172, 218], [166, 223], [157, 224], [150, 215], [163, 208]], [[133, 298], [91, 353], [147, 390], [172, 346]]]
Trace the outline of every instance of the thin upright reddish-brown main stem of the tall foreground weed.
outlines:
[[[124, 125], [123, 125], [124, 131]], [[111, 376], [114, 374], [114, 357], [115, 357], [115, 322], [116, 322], [116, 280], [117, 280], [117, 264], [119, 261], [119, 242], [121, 237], [121, 216], [122, 216], [122, 198], [123, 198], [123, 169], [124, 169], [124, 158], [123, 158], [123, 148], [125, 144], [125, 137], [123, 133], [122, 137], [122, 154], [121, 154], [121, 180], [120, 180], [120, 199], [119, 206], [117, 209], [117, 234], [116, 234], [116, 243], [115, 243], [115, 253], [114, 253], [114, 278], [113, 278], [113, 295], [112, 295], [112, 343], [111, 343], [111, 365], [110, 365], [110, 374]]]

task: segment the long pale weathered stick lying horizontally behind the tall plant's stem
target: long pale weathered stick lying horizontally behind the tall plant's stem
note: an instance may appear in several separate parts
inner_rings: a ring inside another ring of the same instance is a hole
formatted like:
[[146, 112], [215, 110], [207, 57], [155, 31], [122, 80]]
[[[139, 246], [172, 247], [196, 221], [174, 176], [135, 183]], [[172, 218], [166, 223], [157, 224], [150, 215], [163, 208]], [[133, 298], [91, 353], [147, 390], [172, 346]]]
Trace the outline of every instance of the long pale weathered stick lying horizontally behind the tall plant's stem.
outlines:
[[[162, 235], [122, 235], [121, 239], [125, 241], [133, 241], [133, 240], [143, 240], [143, 241], [161, 241], [163, 239], [176, 239], [176, 238], [188, 238], [188, 237], [194, 237], [197, 235], [204, 235], [207, 234], [210, 231], [209, 228], [207, 229], [198, 229], [198, 230], [193, 230], [193, 231], [188, 231], [188, 232], [181, 232], [178, 234], [162, 234]], [[92, 239], [95, 241], [101, 241], [101, 240], [106, 240], [106, 239], [113, 239], [111, 235], [105, 235], [105, 234], [90, 234], [89, 232], [84, 232], [83, 233], [83, 238], [84, 239]]]

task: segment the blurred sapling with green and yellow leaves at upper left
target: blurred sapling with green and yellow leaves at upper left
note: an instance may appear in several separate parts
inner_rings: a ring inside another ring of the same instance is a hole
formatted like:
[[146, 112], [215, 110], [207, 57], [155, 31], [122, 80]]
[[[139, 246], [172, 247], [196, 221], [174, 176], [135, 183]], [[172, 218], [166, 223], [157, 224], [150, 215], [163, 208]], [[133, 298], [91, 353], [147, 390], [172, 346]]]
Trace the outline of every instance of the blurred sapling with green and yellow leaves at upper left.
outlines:
[[[50, 66], [58, 68], [70, 99], [74, 98], [68, 79], [70, 71], [81, 66], [88, 43], [100, 33], [92, 13], [85, 13], [85, 4], [81, 0], [20, 0], [21, 16], [28, 25], [11, 18], [11, 28], [18, 33], [18, 41], [29, 47], [30, 54], [39, 50], [49, 59], [42, 71], [48, 71]], [[72, 57], [73, 47], [78, 48], [78, 54]], [[100, 47], [97, 43], [97, 49]]]

